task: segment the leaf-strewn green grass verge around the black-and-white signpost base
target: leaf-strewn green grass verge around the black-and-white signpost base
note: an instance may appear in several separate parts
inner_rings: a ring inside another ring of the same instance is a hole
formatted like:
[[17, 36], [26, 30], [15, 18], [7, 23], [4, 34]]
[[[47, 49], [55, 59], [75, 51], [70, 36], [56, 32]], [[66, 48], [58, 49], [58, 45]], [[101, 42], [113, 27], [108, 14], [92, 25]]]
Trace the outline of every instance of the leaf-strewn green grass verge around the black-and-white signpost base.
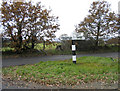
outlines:
[[50, 85], [76, 85], [81, 83], [118, 81], [118, 60], [104, 57], [80, 57], [72, 60], [39, 62], [3, 68], [3, 77], [33, 81]]

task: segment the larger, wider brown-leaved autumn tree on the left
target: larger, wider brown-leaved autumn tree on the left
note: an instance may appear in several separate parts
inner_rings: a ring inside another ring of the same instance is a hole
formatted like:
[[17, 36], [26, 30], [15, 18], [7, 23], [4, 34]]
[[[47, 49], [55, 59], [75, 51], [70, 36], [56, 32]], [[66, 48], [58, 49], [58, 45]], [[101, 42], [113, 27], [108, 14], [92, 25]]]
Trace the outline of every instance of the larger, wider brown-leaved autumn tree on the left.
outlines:
[[50, 41], [59, 29], [58, 17], [40, 2], [2, 2], [3, 35], [9, 37], [16, 51], [33, 49], [38, 41]]

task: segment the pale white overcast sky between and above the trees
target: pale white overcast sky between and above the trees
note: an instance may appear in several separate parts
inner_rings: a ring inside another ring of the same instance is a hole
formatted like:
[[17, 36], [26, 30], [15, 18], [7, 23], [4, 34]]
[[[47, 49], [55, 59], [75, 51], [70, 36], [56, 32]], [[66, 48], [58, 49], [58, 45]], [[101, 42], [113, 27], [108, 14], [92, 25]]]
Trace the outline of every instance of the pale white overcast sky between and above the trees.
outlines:
[[[60, 30], [56, 33], [71, 35], [75, 30], [75, 25], [80, 23], [88, 14], [88, 10], [93, 1], [97, 0], [31, 0], [33, 2], [41, 1], [42, 5], [52, 9], [52, 14], [59, 17]], [[118, 2], [120, 0], [106, 0], [111, 4], [111, 10], [118, 12]]]

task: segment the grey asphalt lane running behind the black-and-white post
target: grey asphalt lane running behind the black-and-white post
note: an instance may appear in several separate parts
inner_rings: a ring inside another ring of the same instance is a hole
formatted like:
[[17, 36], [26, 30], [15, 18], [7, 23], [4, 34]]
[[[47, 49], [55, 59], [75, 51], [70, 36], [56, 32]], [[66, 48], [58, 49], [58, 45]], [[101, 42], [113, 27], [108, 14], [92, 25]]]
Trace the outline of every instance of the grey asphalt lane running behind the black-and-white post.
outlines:
[[[82, 56], [98, 56], [98, 57], [112, 57], [118, 58], [118, 52], [111, 53], [91, 53], [91, 54], [79, 54], [77, 57]], [[53, 55], [53, 56], [40, 56], [40, 57], [26, 57], [26, 58], [2, 58], [2, 66], [15, 66], [15, 65], [26, 65], [35, 64], [40, 61], [57, 61], [71, 59], [72, 55]]]

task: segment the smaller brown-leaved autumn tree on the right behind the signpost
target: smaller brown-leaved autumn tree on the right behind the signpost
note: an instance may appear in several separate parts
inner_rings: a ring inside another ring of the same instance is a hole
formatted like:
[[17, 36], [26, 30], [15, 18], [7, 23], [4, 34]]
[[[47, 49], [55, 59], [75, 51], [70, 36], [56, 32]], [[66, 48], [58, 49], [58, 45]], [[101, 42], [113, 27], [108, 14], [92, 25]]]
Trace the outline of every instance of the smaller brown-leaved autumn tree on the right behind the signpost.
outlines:
[[118, 16], [110, 11], [107, 1], [95, 1], [91, 4], [89, 15], [76, 26], [76, 32], [84, 32], [86, 38], [95, 39], [97, 47], [101, 39], [118, 32]]

